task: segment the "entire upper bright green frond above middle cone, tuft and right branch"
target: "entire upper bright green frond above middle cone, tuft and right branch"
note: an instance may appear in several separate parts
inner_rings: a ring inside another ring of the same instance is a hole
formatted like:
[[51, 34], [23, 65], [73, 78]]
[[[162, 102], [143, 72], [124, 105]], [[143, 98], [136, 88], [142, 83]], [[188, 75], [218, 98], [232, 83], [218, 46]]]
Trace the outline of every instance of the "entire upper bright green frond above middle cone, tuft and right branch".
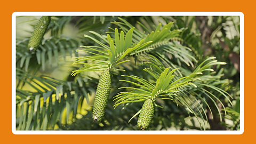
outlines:
[[[161, 29], [161, 23], [160, 23], [156, 28], [156, 33], [153, 31], [151, 34], [148, 34], [147, 36], [145, 36], [127, 21], [123, 20], [122, 18], [119, 18], [119, 19], [124, 21], [124, 23], [116, 22], [116, 21], [113, 23], [121, 27], [123, 31], [121, 31], [121, 33], [119, 34], [117, 29], [115, 30], [113, 29], [114, 38], [111, 38], [109, 34], [107, 36], [104, 36], [104, 35], [95, 33], [94, 31], [90, 31], [90, 33], [94, 34], [94, 36], [99, 37], [100, 40], [95, 39], [94, 37], [89, 35], [84, 35], [85, 37], [92, 39], [99, 46], [84, 46], [87, 49], [78, 50], [78, 51], [91, 53], [94, 55], [93, 57], [90, 57], [92, 65], [90, 65], [90, 63], [84, 63], [85, 67], [73, 71], [72, 75], [81, 73], [84, 70], [85, 71], [100, 70], [100, 69], [103, 70], [103, 69], [106, 69], [106, 67], [109, 67], [111, 69], [114, 66], [116, 66], [116, 64], [119, 64], [116, 62], [123, 59], [126, 55], [130, 55], [130, 56], [140, 55], [146, 52], [150, 52], [153, 49], [154, 49], [154, 54], [156, 55], [159, 55], [162, 52], [170, 53], [175, 55], [175, 57], [179, 57], [182, 61], [187, 63], [188, 66], [190, 65], [194, 66], [193, 62], [190, 59], [193, 59], [194, 61], [196, 60], [187, 52], [188, 50], [187, 47], [181, 46], [178, 43], [169, 42], [171, 37], [178, 35], [178, 33], [180, 32], [179, 30], [176, 30], [176, 31], [174, 30], [170, 32], [172, 23], [169, 23], [168, 25], [163, 26], [162, 29]], [[125, 28], [123, 25], [128, 26], [130, 30]], [[111, 34], [111, 32], [109, 33]], [[157, 51], [158, 49], [155, 49], [156, 47], [162, 47], [162, 46], [163, 46], [162, 52], [158, 52]], [[108, 57], [107, 55], [109, 55], [109, 60], [107, 60], [107, 57]], [[87, 58], [85, 57], [85, 58], [79, 59], [79, 61], [84, 61], [84, 60], [87, 60]], [[93, 61], [97, 61], [97, 62], [93, 62]], [[104, 63], [103, 61], [106, 61], [106, 62]], [[108, 66], [106, 65], [106, 63], [108, 63]], [[89, 69], [91, 66], [93, 66], [93, 68]], [[100, 68], [101, 66], [102, 68]], [[97, 67], [98, 69], [95, 67]], [[172, 67], [174, 66], [172, 65]]]

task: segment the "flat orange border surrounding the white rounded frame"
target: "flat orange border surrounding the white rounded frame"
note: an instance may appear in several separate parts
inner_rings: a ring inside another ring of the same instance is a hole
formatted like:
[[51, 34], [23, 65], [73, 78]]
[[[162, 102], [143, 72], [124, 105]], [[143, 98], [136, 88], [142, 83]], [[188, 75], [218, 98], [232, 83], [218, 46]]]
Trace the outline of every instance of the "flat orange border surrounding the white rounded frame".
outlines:
[[[191, 3], [193, 2], [193, 3]], [[101, 4], [101, 5], [99, 5]], [[254, 139], [254, 115], [253, 105], [255, 92], [253, 92], [255, 78], [247, 82], [246, 78], [253, 76], [253, 70], [246, 71], [245, 76], [245, 131], [241, 135], [15, 135], [11, 130], [11, 29], [13, 12], [57, 12], [57, 11], [212, 11], [212, 12], [243, 12], [245, 26], [245, 67], [254, 66], [255, 44], [254, 35], [249, 33], [255, 27], [254, 5], [246, 5], [243, 1], [5, 1], [2, 4], [1, 30], [1, 138], [8, 143], [240, 143]], [[3, 43], [4, 42], [4, 43]], [[250, 51], [250, 52], [248, 52]], [[254, 140], [253, 140], [254, 141]]]

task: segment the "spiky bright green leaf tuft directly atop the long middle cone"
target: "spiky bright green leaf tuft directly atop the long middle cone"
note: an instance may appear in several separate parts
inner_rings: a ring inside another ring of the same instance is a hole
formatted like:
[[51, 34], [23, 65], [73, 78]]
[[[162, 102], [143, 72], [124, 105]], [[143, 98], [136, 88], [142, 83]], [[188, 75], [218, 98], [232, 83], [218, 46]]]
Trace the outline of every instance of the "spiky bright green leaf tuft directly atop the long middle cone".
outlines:
[[[121, 31], [120, 37], [118, 30], [115, 30], [115, 43], [113, 39], [110, 37], [110, 35], [107, 36], [101, 36], [98, 33], [95, 33], [94, 31], [90, 31], [90, 33], [94, 34], [95, 36], [98, 36], [101, 41], [107, 43], [108, 45], [100, 42], [99, 40], [89, 36], [84, 35], [87, 38], [92, 39], [95, 43], [98, 43], [100, 46], [82, 46], [85, 47], [83, 50], [77, 50], [77, 51], [84, 51], [86, 53], [90, 53], [93, 56], [88, 56], [84, 58], [78, 58], [74, 64], [84, 64], [85, 67], [73, 71], [71, 75], [76, 75], [78, 73], [81, 73], [83, 71], [95, 71], [95, 70], [104, 70], [107, 67], [110, 69], [125, 62], [119, 62], [119, 60], [123, 59], [128, 53], [140, 49], [141, 47], [146, 47], [150, 42], [143, 43], [144, 39], [142, 39], [138, 44], [132, 46], [132, 34], [133, 34], [133, 28], [131, 28], [127, 35], [124, 37], [123, 31]], [[143, 43], [143, 44], [142, 44]], [[81, 61], [91, 61], [91, 62], [82, 62]]]

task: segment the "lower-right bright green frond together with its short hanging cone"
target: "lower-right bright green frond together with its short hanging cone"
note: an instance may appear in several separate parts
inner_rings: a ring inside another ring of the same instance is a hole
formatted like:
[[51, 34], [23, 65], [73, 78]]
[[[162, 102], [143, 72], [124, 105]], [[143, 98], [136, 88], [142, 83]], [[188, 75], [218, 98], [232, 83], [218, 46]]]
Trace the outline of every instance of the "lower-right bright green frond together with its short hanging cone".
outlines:
[[[183, 105], [184, 107], [186, 107], [186, 110], [188, 111], [188, 113], [192, 113], [195, 115], [195, 117], [197, 118], [197, 121], [199, 122], [200, 126], [202, 126], [202, 123], [199, 121], [199, 117], [195, 114], [196, 112], [199, 114], [201, 119], [204, 119], [203, 114], [206, 117], [206, 121], [207, 121], [207, 116], [204, 110], [202, 110], [201, 112], [201, 107], [202, 105], [196, 105], [196, 103], [193, 102], [193, 99], [190, 98], [185, 92], [188, 93], [188, 89], [193, 89], [193, 87], [197, 87], [197, 85], [204, 85], [203, 83], [197, 83], [198, 80], [200, 81], [201, 78], [199, 78], [198, 75], [203, 74], [203, 71], [213, 71], [212, 69], [210, 69], [209, 67], [212, 65], [225, 65], [225, 62], [218, 62], [217, 60], [212, 60], [215, 59], [215, 57], [210, 57], [207, 58], [205, 61], [203, 61], [199, 66], [197, 66], [197, 68], [193, 71], [193, 73], [191, 73], [189, 76], [186, 77], [175, 77], [175, 75], [172, 75], [174, 73], [175, 70], [178, 69], [173, 69], [169, 72], [170, 67], [169, 68], [165, 68], [164, 65], [159, 65], [157, 66], [157, 62], [155, 63], [155, 59], [153, 57], [153, 55], [149, 55], [149, 57], [151, 57], [151, 59], [148, 59], [149, 62], [146, 63], [144, 62], [143, 65], [146, 66], [151, 66], [151, 67], [155, 67], [158, 70], [152, 70], [150, 68], [145, 68], [144, 70], [147, 71], [147, 73], [149, 73], [151, 76], [153, 76], [155, 79], [157, 79], [156, 81], [154, 81], [153, 83], [148, 82], [146, 79], [137, 77], [137, 76], [128, 76], [128, 75], [123, 75], [125, 77], [130, 77], [132, 79], [134, 79], [136, 82], [132, 82], [132, 81], [127, 81], [127, 80], [120, 80], [122, 82], [128, 82], [134, 85], [139, 86], [139, 88], [135, 88], [135, 87], [119, 87], [119, 89], [132, 89], [132, 91], [130, 92], [120, 92], [118, 93], [118, 95], [116, 95], [114, 98], [114, 100], [117, 100], [115, 102], [114, 107], [117, 107], [118, 105], [121, 105], [122, 103], [132, 103], [132, 102], [141, 102], [141, 101], [145, 101], [145, 103], [143, 104], [141, 110], [138, 111], [138, 113], [136, 113], [131, 119], [133, 119], [135, 116], [139, 115], [139, 119], [138, 119], [138, 127], [140, 130], [147, 130], [146, 126], [148, 124], [150, 124], [150, 122], [148, 122], [149, 120], [151, 121], [154, 111], [152, 112], [151, 109], [147, 109], [144, 108], [144, 105], [148, 105], [146, 104], [148, 100], [153, 101], [154, 106], [159, 107], [159, 108], [163, 108], [159, 105], [157, 105], [157, 103], [155, 103], [154, 101], [157, 99], [163, 99], [163, 100], [173, 100], [175, 103], [177, 103], [177, 101], [179, 101], [181, 103], [181, 105]], [[154, 58], [154, 59], [153, 59]], [[204, 63], [206, 61], [212, 60], [208, 63], [206, 63], [204, 65]], [[161, 73], [162, 72], [162, 73]], [[197, 85], [195, 85], [197, 84]], [[191, 86], [189, 86], [191, 85]], [[207, 85], [209, 86], [209, 85]], [[223, 94], [228, 101], [231, 104], [231, 101], [229, 100], [228, 96], [231, 97], [231, 95], [229, 95], [228, 93], [226, 93], [225, 91], [214, 87], [214, 86], [209, 86], [211, 89], [217, 90], [218, 92], [220, 92], [221, 94]], [[204, 89], [200, 89], [199, 87], [197, 87], [197, 89], [199, 91], [202, 92], [207, 92], [209, 94], [211, 94], [210, 92], [204, 90]], [[204, 93], [205, 93], [204, 92]], [[227, 94], [227, 95], [226, 95]], [[212, 94], [211, 94], [212, 95]], [[214, 101], [210, 95], [207, 94], [207, 96]], [[212, 95], [214, 98], [216, 98], [214, 95]], [[204, 101], [201, 97], [199, 97], [202, 101]], [[194, 98], [195, 99], [195, 98]], [[216, 98], [217, 99], [217, 98]], [[196, 100], [196, 99], [195, 99]], [[218, 99], [217, 99], [218, 100]], [[198, 100], [196, 100], [198, 102]], [[204, 101], [205, 102], [205, 101]], [[221, 105], [223, 105], [223, 103], [221, 101], [219, 101], [221, 103]], [[198, 102], [199, 103], [199, 102]], [[152, 104], [150, 104], [152, 105]], [[207, 105], [207, 103], [205, 102], [205, 105]], [[232, 105], [232, 104], [231, 104]], [[178, 106], [178, 103], [177, 103]], [[195, 108], [193, 108], [193, 107]], [[207, 105], [208, 106], [208, 105]], [[218, 106], [215, 105], [218, 109]], [[209, 106], [208, 106], [209, 107]], [[224, 107], [224, 106], [223, 106]], [[148, 107], [150, 108], [150, 107]], [[209, 107], [210, 111], [211, 108]], [[146, 110], [146, 112], [145, 112]], [[219, 110], [218, 110], [219, 111]], [[224, 111], [226, 113], [226, 110], [224, 108]], [[145, 115], [145, 113], [147, 113], [147, 115]], [[152, 114], [151, 115], [149, 115]], [[219, 111], [219, 114], [221, 116], [221, 113]], [[146, 118], [146, 120], [142, 121], [142, 119], [140, 117]], [[130, 119], [130, 121], [131, 121]], [[129, 122], [130, 122], [129, 121]], [[220, 119], [221, 121], [221, 119]], [[141, 122], [144, 122], [143, 124]], [[204, 124], [204, 129], [206, 126], [206, 123], [203, 121]]]

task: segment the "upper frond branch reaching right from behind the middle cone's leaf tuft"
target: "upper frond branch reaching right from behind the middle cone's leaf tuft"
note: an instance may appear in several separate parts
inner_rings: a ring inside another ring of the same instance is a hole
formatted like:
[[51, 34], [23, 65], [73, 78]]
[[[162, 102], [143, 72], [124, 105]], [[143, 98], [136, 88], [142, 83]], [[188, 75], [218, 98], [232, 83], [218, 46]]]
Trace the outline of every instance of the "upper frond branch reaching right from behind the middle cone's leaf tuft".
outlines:
[[[124, 30], [124, 32], [128, 30], [126, 27], [128, 28], [133, 27], [129, 22], [125, 21], [124, 19], [122, 18], [119, 18], [119, 19], [122, 20], [123, 22], [115, 21], [113, 23], [119, 26], [122, 30]], [[140, 25], [143, 26], [141, 23]], [[144, 42], [152, 41], [152, 43], [150, 43], [150, 45], [148, 45], [147, 47], [141, 47], [141, 49], [137, 49], [134, 52], [131, 52], [129, 55], [131, 56], [141, 55], [142, 53], [150, 53], [153, 55], [158, 55], [159, 53], [167, 52], [174, 55], [181, 61], [185, 62], [188, 66], [191, 65], [194, 67], [194, 64], [191, 60], [193, 60], [194, 62], [197, 62], [197, 60], [187, 51], [187, 50], [189, 51], [191, 50], [188, 47], [181, 46], [180, 44], [171, 41], [171, 39], [179, 36], [181, 32], [181, 30], [179, 29], [170, 31], [172, 25], [173, 25], [173, 22], [170, 22], [167, 25], [164, 25], [162, 27], [162, 23], [159, 23], [155, 31], [152, 31], [150, 34], [145, 34], [145, 31], [144, 33], [142, 33], [141, 31], [135, 28], [134, 35], [133, 35], [134, 37], [133, 43], [138, 43], [140, 39], [143, 39], [143, 38], [145, 39]], [[143, 26], [143, 28], [145, 28], [145, 26]], [[112, 32], [109, 32], [109, 33], [112, 33]]]

